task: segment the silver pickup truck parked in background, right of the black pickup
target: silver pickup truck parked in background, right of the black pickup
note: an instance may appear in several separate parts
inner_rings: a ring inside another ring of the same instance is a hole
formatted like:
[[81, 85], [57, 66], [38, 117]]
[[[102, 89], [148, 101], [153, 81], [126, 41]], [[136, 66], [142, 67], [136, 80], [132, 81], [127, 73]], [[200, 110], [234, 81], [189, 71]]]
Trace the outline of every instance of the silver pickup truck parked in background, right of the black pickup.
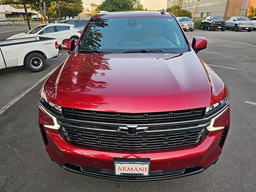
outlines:
[[227, 28], [238, 31], [239, 29], [252, 31], [254, 28], [253, 22], [248, 19], [248, 17], [231, 17], [227, 21]]

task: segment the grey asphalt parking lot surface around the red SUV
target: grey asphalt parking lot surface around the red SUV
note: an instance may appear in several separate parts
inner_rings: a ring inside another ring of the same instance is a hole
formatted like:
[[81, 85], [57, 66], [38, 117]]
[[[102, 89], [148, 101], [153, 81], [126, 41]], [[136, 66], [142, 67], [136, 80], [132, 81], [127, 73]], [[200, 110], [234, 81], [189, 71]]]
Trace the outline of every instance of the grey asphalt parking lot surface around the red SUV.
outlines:
[[[1, 35], [1, 34], [0, 34]], [[256, 191], [256, 31], [193, 31], [208, 47], [198, 53], [230, 90], [231, 129], [223, 153], [205, 172], [179, 179], [120, 182], [63, 170], [47, 156], [38, 129], [38, 92], [68, 54], [47, 60], [43, 72], [0, 70], [0, 191]]]

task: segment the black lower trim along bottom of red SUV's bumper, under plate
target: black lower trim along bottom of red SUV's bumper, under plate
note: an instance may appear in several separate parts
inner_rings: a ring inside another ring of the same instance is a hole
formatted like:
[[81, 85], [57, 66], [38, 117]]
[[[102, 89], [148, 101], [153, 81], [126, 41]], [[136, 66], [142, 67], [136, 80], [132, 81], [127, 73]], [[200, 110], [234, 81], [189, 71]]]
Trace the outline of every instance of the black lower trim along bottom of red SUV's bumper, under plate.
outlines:
[[126, 181], [145, 181], [145, 180], [161, 180], [161, 179], [172, 179], [177, 177], [185, 177], [188, 175], [194, 175], [196, 173], [203, 172], [205, 168], [201, 166], [195, 166], [191, 168], [175, 169], [175, 170], [159, 170], [150, 172], [148, 177], [124, 177], [114, 175], [112, 170], [102, 170], [95, 168], [84, 168], [75, 164], [63, 164], [62, 168], [70, 172], [76, 172], [83, 175], [89, 175], [93, 177], [99, 177], [104, 179], [113, 180], [126, 180]]

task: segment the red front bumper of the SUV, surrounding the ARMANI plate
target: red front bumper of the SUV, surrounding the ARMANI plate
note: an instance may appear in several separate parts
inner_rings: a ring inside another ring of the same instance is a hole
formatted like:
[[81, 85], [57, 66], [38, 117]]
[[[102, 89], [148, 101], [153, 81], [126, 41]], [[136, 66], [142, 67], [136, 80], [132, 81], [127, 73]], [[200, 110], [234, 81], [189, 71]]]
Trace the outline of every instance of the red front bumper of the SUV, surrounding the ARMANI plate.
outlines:
[[[200, 173], [214, 164], [221, 154], [223, 129], [209, 132], [196, 146], [152, 152], [99, 150], [68, 143], [57, 130], [45, 128], [46, 150], [51, 159], [72, 172], [118, 180], [157, 180]], [[150, 158], [150, 176], [120, 177], [114, 175], [113, 159]]]

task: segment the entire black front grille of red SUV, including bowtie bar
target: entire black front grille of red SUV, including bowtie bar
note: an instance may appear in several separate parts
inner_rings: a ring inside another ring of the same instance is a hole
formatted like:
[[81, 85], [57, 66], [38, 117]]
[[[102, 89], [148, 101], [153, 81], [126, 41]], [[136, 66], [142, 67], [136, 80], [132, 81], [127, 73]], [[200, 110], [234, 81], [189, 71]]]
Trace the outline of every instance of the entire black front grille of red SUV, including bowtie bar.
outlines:
[[109, 150], [190, 147], [207, 136], [205, 109], [161, 113], [113, 113], [62, 108], [63, 138], [74, 145]]

